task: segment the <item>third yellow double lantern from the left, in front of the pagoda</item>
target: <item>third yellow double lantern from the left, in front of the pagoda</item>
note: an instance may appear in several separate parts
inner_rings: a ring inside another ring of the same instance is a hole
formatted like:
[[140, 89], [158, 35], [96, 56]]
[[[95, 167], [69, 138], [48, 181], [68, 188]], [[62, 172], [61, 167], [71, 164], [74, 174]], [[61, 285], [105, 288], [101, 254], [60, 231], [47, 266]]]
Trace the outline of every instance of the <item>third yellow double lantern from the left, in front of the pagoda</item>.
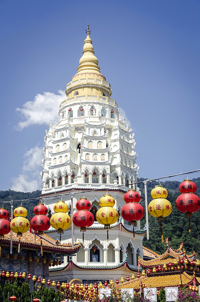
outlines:
[[99, 223], [104, 224], [104, 229], [107, 229], [107, 241], [108, 241], [108, 229], [110, 225], [115, 223], [119, 214], [116, 209], [113, 208], [115, 200], [111, 195], [105, 194], [100, 198], [99, 204], [101, 208], [96, 213], [96, 219]]

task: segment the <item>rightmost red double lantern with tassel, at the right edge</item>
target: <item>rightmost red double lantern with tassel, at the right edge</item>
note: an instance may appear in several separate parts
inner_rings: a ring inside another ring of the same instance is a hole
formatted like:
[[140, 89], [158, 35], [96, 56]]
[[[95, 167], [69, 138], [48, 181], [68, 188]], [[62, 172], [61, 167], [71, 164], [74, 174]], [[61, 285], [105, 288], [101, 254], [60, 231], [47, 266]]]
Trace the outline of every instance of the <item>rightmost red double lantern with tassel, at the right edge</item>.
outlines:
[[196, 185], [190, 179], [185, 179], [179, 185], [179, 191], [182, 193], [176, 199], [176, 208], [185, 213], [186, 217], [189, 218], [189, 232], [191, 231], [190, 227], [190, 218], [192, 213], [197, 212], [200, 209], [200, 198], [194, 194], [196, 191]]

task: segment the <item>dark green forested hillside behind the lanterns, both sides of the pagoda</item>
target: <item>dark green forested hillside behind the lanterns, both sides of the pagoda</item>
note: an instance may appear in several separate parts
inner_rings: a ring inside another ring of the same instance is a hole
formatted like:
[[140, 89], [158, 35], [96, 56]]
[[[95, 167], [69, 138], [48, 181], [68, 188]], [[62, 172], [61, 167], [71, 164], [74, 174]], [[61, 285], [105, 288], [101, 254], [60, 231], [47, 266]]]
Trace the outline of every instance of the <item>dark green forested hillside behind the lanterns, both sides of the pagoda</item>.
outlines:
[[[138, 178], [138, 182], [144, 181], [144, 178]], [[200, 196], [200, 178], [193, 178], [193, 182], [197, 185], [197, 191], [195, 194]], [[179, 241], [183, 241], [184, 248], [186, 252], [190, 254], [193, 250], [198, 253], [197, 257], [200, 257], [200, 210], [197, 213], [192, 214], [191, 218], [191, 232], [188, 231], [188, 218], [185, 217], [184, 213], [179, 212], [176, 209], [175, 201], [176, 198], [180, 195], [179, 192], [179, 184], [177, 181], [166, 181], [160, 182], [164, 188], [168, 191], [167, 199], [171, 202], [173, 210], [172, 213], [165, 218], [163, 223], [163, 235], [165, 237], [169, 237], [170, 244], [173, 248], [179, 247]], [[148, 191], [148, 202], [152, 200], [151, 198], [151, 190], [155, 187], [155, 185], [159, 185], [159, 182], [153, 181], [147, 183], [147, 191]], [[138, 184], [138, 187], [141, 190], [141, 195], [144, 197], [144, 184]], [[0, 203], [5, 201], [10, 201], [10, 196], [12, 196], [13, 200], [21, 200], [27, 198], [37, 198], [41, 194], [40, 190], [33, 192], [16, 192], [16, 191], [0, 191]], [[24, 201], [22, 205], [27, 208], [28, 216], [27, 219], [33, 217], [33, 208], [37, 205], [38, 200], [32, 201]], [[14, 207], [20, 205], [21, 202], [14, 202]], [[142, 206], [144, 207], [144, 199], [141, 201]], [[10, 212], [11, 204], [4, 203], [4, 207]], [[141, 228], [146, 223], [146, 217], [141, 220]], [[149, 237], [147, 240], [144, 238], [143, 245], [149, 249], [152, 249], [155, 252], [163, 253], [166, 251], [166, 243], [161, 243], [160, 238], [160, 225], [157, 223], [157, 218], [154, 218], [149, 215]]]

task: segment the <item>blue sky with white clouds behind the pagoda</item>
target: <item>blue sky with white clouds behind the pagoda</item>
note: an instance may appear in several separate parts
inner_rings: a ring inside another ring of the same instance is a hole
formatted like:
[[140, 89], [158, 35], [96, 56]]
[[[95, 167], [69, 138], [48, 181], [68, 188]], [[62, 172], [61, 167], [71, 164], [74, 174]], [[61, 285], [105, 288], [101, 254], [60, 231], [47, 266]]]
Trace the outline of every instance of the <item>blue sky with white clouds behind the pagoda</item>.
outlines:
[[0, 6], [0, 190], [40, 189], [45, 129], [76, 73], [87, 22], [112, 98], [135, 133], [138, 176], [200, 169], [199, 1], [2, 0]]

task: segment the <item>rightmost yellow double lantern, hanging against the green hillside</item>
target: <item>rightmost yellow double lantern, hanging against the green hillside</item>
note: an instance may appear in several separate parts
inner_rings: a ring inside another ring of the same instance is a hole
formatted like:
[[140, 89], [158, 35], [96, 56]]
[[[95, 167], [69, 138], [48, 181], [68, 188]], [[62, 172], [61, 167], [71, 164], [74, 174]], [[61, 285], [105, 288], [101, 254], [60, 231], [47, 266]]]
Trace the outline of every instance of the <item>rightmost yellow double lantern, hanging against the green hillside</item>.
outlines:
[[[165, 199], [165, 198], [160, 198], [160, 196], [166, 196], [167, 197], [167, 190], [165, 188], [162, 188], [162, 186], [155, 186], [154, 189], [151, 190], [152, 196], [155, 196], [155, 199], [153, 199], [149, 205], [148, 205], [148, 212], [151, 216], [157, 217], [158, 223], [160, 223], [160, 230], [161, 230], [161, 239], [162, 242], [163, 240], [163, 228], [162, 228], [162, 223], [164, 221], [164, 217], [167, 217], [170, 215], [172, 211], [172, 205], [171, 203]], [[156, 193], [157, 192], [157, 193]], [[159, 194], [159, 192], [161, 194]], [[159, 196], [159, 197], [157, 197]]]

